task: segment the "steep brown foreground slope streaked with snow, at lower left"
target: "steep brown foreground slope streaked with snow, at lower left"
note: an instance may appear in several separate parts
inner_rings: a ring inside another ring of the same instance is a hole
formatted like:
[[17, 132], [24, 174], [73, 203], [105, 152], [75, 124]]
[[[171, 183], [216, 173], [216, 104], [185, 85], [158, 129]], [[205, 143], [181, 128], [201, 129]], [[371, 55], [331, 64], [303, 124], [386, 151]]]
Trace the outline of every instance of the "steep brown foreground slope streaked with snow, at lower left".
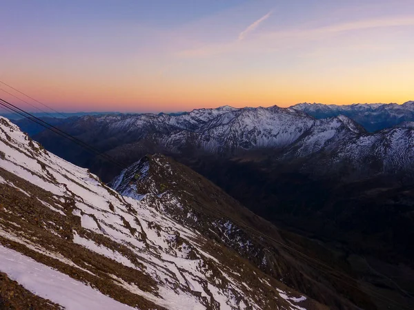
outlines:
[[[158, 187], [143, 196], [121, 196], [6, 118], [0, 118], [0, 149], [0, 304], [326, 309], [224, 242], [177, 220], [174, 209], [186, 208], [194, 219], [197, 210], [162, 184], [144, 182]], [[159, 169], [170, 172], [167, 165]], [[21, 295], [10, 293], [14, 289], [28, 298], [19, 300]]]

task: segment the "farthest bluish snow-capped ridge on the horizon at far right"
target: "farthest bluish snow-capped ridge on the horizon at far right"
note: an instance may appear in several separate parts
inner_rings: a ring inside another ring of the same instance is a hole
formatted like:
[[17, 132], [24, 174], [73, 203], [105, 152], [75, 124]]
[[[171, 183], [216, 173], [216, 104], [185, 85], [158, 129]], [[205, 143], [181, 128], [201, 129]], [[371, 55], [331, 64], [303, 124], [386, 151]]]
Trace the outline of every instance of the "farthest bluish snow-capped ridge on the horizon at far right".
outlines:
[[364, 126], [368, 132], [393, 127], [404, 121], [414, 121], [414, 101], [407, 101], [402, 105], [397, 103], [357, 103], [353, 105], [299, 103], [291, 108], [306, 112], [315, 118], [346, 115]]

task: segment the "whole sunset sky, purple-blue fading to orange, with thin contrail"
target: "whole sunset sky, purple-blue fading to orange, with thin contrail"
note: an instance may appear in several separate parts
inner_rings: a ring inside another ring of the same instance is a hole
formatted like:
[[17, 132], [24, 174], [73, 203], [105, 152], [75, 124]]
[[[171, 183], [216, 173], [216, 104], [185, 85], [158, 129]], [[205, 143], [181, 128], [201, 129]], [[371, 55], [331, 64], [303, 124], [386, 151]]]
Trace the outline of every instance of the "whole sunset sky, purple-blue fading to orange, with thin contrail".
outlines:
[[414, 100], [413, 0], [1, 4], [0, 81], [61, 112]]

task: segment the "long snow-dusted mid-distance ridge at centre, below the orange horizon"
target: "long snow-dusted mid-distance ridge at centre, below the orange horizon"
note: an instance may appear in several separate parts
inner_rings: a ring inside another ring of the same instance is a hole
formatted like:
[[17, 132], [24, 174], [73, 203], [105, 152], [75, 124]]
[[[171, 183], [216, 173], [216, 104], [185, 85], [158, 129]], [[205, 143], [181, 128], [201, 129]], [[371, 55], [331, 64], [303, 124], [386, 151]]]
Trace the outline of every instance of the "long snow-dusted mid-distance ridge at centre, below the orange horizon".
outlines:
[[[110, 134], [128, 134], [134, 140], [151, 136], [167, 149], [198, 145], [203, 152], [235, 152], [293, 143], [315, 120], [302, 112], [279, 107], [219, 107], [186, 114], [85, 116]], [[79, 125], [79, 124], [78, 124]]]

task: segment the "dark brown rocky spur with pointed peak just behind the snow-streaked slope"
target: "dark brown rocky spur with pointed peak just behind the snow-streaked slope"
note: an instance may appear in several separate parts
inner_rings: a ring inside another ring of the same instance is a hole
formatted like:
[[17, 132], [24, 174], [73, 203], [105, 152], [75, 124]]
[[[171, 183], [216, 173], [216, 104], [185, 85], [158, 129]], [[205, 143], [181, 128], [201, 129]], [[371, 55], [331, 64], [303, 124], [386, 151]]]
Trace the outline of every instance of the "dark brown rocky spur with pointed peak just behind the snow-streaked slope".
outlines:
[[[359, 306], [364, 305], [366, 309], [373, 307], [362, 291], [355, 290], [353, 286], [356, 282], [337, 280], [329, 273], [321, 273], [318, 266], [297, 255], [295, 249], [308, 251], [306, 246], [296, 243], [297, 239], [282, 237], [280, 231], [268, 221], [239, 205], [193, 170], [170, 158], [145, 156], [124, 170], [112, 181], [111, 186], [132, 198], [141, 198], [144, 194], [160, 196], [168, 207], [168, 214], [172, 214], [179, 223], [223, 243], [269, 276], [332, 308], [352, 307], [348, 301], [338, 297], [338, 293]], [[177, 205], [180, 207], [177, 208]], [[284, 245], [295, 249], [286, 249]], [[318, 248], [317, 245], [313, 246]], [[319, 256], [328, 258], [330, 265], [348, 271], [346, 264], [342, 265], [331, 253], [322, 247], [318, 251]]]

